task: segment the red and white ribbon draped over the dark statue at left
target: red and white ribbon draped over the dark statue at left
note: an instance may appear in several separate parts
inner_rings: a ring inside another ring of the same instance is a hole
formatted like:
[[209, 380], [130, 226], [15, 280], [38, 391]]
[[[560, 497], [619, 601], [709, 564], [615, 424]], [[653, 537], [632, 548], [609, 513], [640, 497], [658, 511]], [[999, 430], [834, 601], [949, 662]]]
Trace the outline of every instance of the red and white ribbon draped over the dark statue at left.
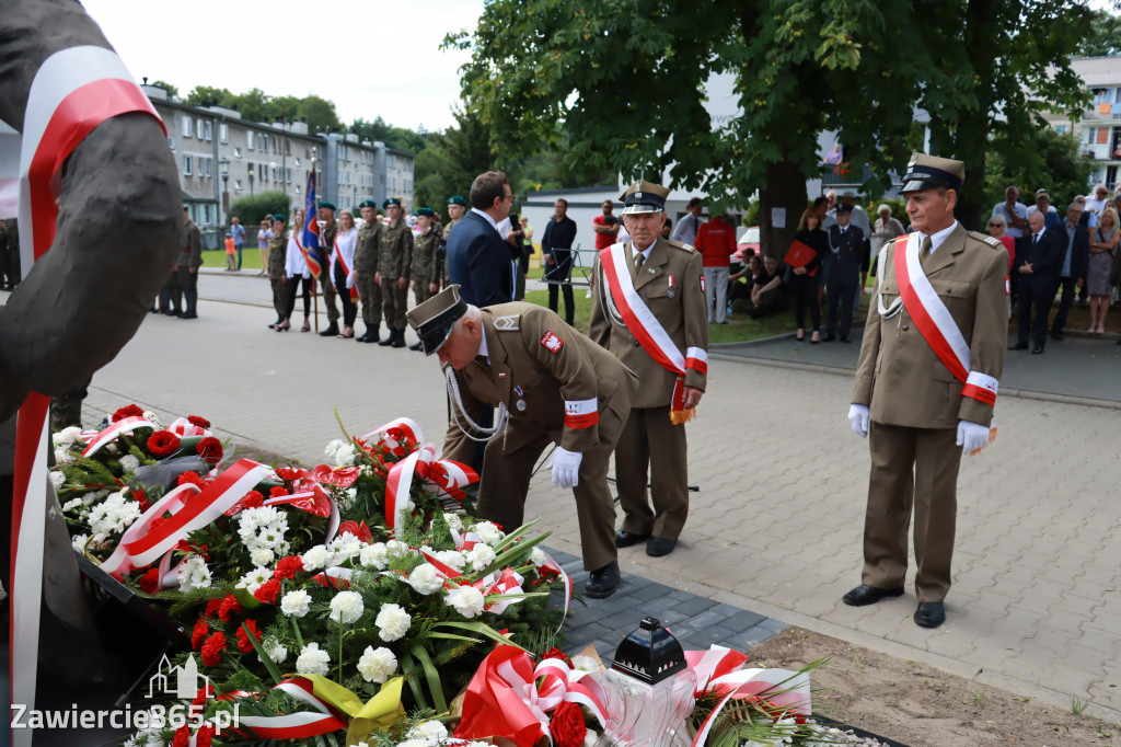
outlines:
[[[19, 238], [22, 266], [29, 269], [55, 238], [61, 168], [95, 127], [113, 117], [146, 112], [163, 120], [148, 96], [111, 49], [80, 46], [50, 55], [35, 74], [24, 114], [19, 158]], [[166, 131], [166, 128], [165, 128]], [[0, 155], [7, 153], [0, 151]], [[10, 166], [0, 168], [0, 177]], [[4, 183], [4, 194], [10, 182]], [[7, 197], [10, 202], [10, 197]], [[47, 505], [47, 409], [38, 393], [20, 408], [16, 435], [12, 501], [11, 702], [33, 708], [43, 585], [43, 517]], [[25, 522], [24, 518], [27, 518]], [[30, 744], [31, 731], [13, 732], [13, 744]]]

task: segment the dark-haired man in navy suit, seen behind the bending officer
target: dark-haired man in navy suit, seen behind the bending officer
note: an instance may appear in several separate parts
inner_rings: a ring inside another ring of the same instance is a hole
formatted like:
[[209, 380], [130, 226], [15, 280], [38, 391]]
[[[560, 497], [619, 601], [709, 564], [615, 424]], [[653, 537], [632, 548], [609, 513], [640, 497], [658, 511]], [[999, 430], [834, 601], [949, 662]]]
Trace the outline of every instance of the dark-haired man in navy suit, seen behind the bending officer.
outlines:
[[513, 301], [516, 265], [498, 223], [510, 214], [513, 194], [502, 172], [487, 172], [471, 184], [471, 211], [447, 237], [447, 273], [460, 296], [473, 306]]

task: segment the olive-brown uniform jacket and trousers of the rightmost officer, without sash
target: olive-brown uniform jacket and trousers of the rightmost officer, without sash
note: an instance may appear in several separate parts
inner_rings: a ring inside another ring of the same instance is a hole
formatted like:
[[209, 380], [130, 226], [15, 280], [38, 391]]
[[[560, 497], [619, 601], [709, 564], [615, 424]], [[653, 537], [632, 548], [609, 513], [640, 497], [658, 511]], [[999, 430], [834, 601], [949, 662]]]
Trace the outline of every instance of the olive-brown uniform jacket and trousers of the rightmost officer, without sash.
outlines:
[[[992, 422], [992, 405], [963, 397], [963, 385], [938, 360], [902, 307], [895, 260], [906, 243], [887, 245], [864, 326], [852, 402], [869, 407], [872, 452], [864, 518], [863, 583], [904, 585], [907, 527], [915, 510], [915, 578], [919, 602], [949, 590], [962, 448], [957, 422]], [[970, 347], [970, 369], [999, 379], [1004, 366], [1008, 251], [961, 224], [923, 261], [923, 270]]]

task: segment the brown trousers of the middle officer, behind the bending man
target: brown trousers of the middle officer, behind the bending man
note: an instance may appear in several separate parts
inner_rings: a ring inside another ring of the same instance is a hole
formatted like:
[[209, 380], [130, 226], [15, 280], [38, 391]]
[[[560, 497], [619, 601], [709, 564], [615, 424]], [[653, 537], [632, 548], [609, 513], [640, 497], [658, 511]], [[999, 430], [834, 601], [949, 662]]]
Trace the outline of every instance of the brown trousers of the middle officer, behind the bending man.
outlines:
[[[631, 411], [615, 446], [615, 483], [623, 531], [676, 540], [689, 513], [685, 426], [669, 419], [669, 405]], [[649, 468], [649, 471], [648, 471]], [[647, 499], [649, 476], [650, 497]]]

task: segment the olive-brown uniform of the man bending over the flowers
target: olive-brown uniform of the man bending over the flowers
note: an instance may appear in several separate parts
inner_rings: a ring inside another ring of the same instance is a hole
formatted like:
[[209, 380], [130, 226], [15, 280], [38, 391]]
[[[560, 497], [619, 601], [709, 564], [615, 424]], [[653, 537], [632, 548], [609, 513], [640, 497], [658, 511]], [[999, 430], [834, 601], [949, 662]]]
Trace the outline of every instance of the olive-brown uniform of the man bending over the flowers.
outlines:
[[[702, 312], [704, 310], [702, 308]], [[615, 510], [608, 489], [608, 462], [630, 413], [638, 377], [611, 353], [535, 304], [482, 310], [488, 357], [455, 372], [463, 407], [475, 422], [484, 406], [504, 403], [509, 425], [487, 444], [478, 509], [507, 531], [521, 526], [534, 464], [549, 443], [580, 452], [573, 488], [584, 568], [617, 557]], [[591, 404], [595, 418], [566, 417]], [[454, 406], [454, 405], [453, 405]], [[444, 458], [470, 463], [471, 441], [455, 421]]]

